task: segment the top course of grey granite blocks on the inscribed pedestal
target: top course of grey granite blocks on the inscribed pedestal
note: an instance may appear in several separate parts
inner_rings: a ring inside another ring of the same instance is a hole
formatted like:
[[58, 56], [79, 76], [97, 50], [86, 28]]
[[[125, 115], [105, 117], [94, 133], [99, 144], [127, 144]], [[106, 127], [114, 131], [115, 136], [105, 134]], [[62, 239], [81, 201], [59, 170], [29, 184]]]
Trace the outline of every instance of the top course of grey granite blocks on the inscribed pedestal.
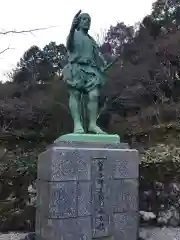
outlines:
[[38, 179], [89, 181], [95, 159], [107, 159], [106, 174], [115, 179], [138, 178], [139, 156], [135, 149], [53, 147], [39, 156]]

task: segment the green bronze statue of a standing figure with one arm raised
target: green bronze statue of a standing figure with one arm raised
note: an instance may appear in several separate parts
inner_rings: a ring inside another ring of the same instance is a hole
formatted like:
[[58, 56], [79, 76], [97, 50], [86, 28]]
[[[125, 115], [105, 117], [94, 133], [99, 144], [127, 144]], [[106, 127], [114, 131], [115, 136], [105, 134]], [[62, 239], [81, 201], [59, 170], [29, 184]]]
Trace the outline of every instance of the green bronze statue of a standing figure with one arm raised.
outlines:
[[63, 69], [68, 85], [69, 108], [74, 121], [74, 133], [85, 133], [82, 123], [81, 96], [87, 94], [88, 132], [104, 134], [96, 124], [99, 89], [104, 83], [102, 58], [98, 44], [88, 34], [91, 17], [81, 10], [75, 15], [67, 37], [69, 62]]

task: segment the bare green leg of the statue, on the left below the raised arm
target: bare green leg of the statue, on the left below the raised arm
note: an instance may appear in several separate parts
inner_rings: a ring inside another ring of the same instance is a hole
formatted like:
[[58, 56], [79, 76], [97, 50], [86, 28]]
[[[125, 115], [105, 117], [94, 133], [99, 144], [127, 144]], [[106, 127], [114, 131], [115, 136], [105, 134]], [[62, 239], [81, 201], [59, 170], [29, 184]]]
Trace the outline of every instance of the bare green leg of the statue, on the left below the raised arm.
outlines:
[[69, 108], [74, 121], [74, 133], [84, 133], [80, 114], [80, 92], [76, 90], [69, 91]]

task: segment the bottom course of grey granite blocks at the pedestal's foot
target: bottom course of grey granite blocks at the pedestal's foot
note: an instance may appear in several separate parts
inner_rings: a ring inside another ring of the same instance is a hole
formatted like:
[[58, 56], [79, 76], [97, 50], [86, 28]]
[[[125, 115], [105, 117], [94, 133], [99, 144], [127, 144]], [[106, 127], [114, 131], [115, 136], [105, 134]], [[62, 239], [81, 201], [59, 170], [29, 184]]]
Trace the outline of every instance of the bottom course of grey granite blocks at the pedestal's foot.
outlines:
[[93, 228], [98, 223], [91, 216], [68, 219], [41, 217], [41, 225], [38, 230], [36, 228], [36, 234], [39, 240], [137, 240], [138, 223], [138, 212], [114, 214], [111, 224], [108, 223], [103, 229]]

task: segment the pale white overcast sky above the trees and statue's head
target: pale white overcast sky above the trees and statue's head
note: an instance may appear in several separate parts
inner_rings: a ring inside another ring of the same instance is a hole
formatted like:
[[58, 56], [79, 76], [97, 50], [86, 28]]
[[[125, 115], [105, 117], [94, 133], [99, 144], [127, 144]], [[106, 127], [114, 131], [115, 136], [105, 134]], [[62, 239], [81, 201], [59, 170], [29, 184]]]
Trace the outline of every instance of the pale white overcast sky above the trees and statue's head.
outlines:
[[[111, 4], [111, 2], [113, 4]], [[151, 12], [154, 0], [6, 0], [1, 3], [0, 32], [48, 28], [26, 34], [0, 34], [0, 80], [14, 68], [32, 45], [65, 43], [74, 15], [81, 9], [91, 15], [90, 34], [102, 37], [110, 25], [134, 25]]]

